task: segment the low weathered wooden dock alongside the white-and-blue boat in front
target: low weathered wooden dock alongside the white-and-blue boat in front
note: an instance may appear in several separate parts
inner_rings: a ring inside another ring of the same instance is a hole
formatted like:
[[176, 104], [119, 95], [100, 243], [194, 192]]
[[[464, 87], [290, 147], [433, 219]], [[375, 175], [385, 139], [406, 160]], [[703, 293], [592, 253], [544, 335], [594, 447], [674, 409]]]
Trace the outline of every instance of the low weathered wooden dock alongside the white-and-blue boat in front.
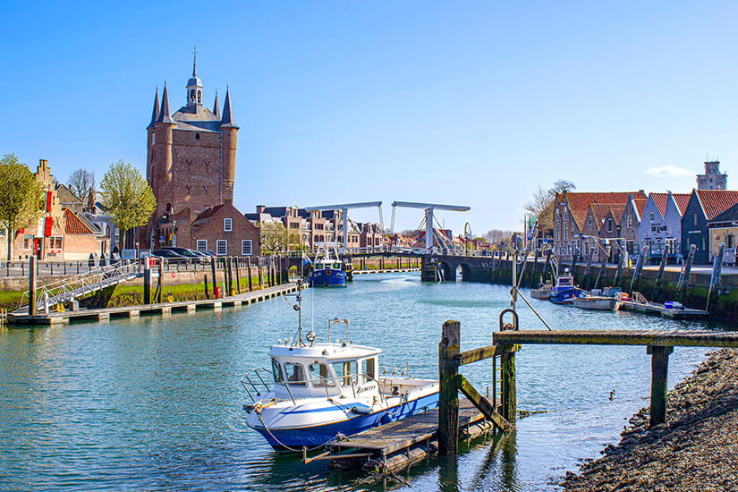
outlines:
[[[479, 437], [491, 427], [473, 403], [466, 399], [459, 401], [459, 432], [462, 438]], [[402, 470], [437, 452], [438, 409], [371, 428], [326, 447], [326, 453], [312, 458], [303, 455], [302, 461], [330, 460], [331, 467], [341, 469], [361, 466], [365, 471]]]

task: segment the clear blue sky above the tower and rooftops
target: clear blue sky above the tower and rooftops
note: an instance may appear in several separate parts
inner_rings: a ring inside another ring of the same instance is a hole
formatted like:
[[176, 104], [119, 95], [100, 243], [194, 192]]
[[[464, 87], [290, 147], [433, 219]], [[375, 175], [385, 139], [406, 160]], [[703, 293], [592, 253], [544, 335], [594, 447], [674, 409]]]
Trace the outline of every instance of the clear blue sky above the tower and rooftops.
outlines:
[[[79, 167], [99, 180], [121, 158], [145, 170], [154, 89], [167, 81], [173, 110], [184, 104], [195, 45], [208, 106], [231, 89], [244, 212], [454, 203], [472, 210], [441, 214], [445, 225], [483, 233], [520, 228], [524, 202], [556, 179], [691, 191], [708, 153], [738, 169], [734, 2], [4, 2], [2, 13], [0, 153], [34, 169], [47, 158], [61, 181]], [[398, 210], [395, 229], [419, 222]]]

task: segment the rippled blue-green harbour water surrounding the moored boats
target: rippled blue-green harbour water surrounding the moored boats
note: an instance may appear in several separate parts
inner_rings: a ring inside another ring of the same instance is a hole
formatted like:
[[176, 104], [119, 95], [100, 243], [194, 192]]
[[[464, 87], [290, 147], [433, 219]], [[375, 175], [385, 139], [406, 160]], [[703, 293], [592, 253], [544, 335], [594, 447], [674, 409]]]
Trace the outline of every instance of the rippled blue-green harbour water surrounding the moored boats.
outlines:
[[[357, 276], [345, 289], [304, 295], [305, 325], [314, 323], [324, 340], [328, 318], [349, 318], [354, 343], [381, 347], [382, 366], [407, 361], [418, 377], [437, 377], [445, 319], [462, 322], [466, 350], [489, 344], [509, 303], [509, 287], [421, 284], [417, 273]], [[532, 302], [556, 328], [700, 327]], [[541, 327], [530, 310], [520, 312], [522, 329]], [[304, 466], [275, 454], [244, 423], [240, 377], [266, 367], [269, 345], [293, 336], [296, 325], [288, 301], [276, 298], [220, 312], [0, 332], [0, 489], [556, 490], [557, 479], [615, 444], [632, 413], [649, 404], [645, 347], [525, 346], [518, 408], [540, 413], [505, 439], [463, 445], [456, 462], [432, 459], [403, 472], [408, 485], [362, 485], [325, 462]], [[669, 386], [705, 352], [677, 348]], [[480, 389], [491, 384], [490, 362], [462, 373]]]

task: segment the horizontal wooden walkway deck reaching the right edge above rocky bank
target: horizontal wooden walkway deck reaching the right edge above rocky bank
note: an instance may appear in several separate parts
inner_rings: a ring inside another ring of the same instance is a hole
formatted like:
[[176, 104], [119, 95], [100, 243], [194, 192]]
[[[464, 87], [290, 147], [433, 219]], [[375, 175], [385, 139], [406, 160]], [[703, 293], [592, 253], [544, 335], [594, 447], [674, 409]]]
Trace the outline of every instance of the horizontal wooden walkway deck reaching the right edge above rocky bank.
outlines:
[[493, 334], [492, 343], [738, 347], [738, 332], [697, 330], [510, 330]]

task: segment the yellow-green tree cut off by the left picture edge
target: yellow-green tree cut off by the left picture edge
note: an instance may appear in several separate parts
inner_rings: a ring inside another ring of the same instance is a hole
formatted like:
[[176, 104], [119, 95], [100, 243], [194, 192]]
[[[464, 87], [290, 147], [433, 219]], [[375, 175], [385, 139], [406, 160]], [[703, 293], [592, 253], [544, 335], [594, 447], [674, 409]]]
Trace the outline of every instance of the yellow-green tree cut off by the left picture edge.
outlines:
[[41, 215], [38, 204], [43, 195], [41, 183], [28, 166], [13, 154], [5, 154], [0, 161], [0, 225], [7, 234], [8, 260], [13, 258], [15, 232]]

